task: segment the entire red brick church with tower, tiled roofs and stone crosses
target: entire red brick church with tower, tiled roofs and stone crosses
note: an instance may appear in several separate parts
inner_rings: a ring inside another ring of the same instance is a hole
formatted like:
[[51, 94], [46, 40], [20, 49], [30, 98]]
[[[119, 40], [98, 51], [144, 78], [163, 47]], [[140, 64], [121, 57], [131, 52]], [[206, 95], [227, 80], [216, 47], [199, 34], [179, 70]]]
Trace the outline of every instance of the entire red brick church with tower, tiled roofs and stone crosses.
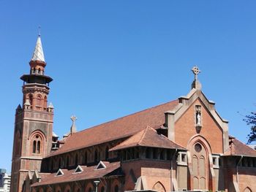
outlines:
[[[53, 133], [53, 104], [40, 37], [15, 113], [11, 191], [256, 191], [256, 151], [195, 79], [187, 96], [68, 134]], [[227, 106], [228, 107], [228, 106]]]

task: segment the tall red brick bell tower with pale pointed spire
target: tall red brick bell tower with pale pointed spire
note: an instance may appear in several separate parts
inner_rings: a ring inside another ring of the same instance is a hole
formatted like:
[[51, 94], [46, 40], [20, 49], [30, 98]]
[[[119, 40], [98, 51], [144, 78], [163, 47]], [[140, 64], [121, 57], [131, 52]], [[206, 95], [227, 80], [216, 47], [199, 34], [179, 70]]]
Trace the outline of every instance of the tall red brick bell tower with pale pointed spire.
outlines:
[[49, 83], [40, 35], [34, 49], [30, 73], [23, 80], [23, 104], [15, 112], [11, 191], [24, 191], [29, 172], [40, 171], [42, 158], [50, 153], [53, 135], [53, 105], [48, 104]]

